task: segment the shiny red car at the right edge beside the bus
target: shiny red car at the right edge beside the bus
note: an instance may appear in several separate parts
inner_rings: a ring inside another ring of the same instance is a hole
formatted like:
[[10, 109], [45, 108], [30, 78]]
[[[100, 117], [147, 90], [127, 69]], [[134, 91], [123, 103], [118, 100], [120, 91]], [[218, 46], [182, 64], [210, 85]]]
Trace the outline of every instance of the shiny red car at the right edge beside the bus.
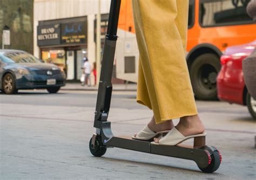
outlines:
[[220, 58], [222, 67], [217, 78], [219, 99], [247, 106], [253, 119], [256, 119], [256, 101], [247, 92], [242, 60], [250, 56], [255, 48], [256, 40], [249, 44], [228, 47]]

